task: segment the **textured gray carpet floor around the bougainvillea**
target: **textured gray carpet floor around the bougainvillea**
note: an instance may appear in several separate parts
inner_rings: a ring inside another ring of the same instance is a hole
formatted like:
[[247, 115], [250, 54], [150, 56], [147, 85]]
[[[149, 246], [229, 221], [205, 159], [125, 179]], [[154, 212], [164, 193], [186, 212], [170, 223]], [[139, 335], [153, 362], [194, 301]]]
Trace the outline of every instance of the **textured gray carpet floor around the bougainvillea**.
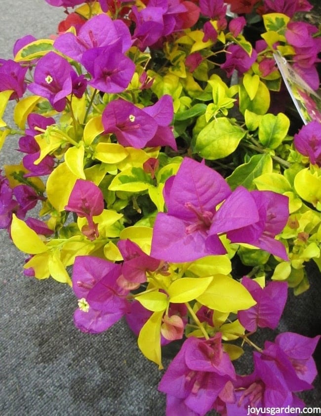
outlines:
[[[62, 9], [44, 0], [1, 0], [0, 57], [11, 58], [15, 40], [26, 34], [55, 33], [63, 18]], [[18, 162], [15, 148], [16, 140], [7, 139], [0, 166]], [[77, 301], [71, 289], [24, 277], [24, 258], [1, 231], [0, 414], [163, 415], [161, 373], [142, 357], [126, 326], [120, 322], [100, 335], [80, 333], [72, 322]], [[320, 273], [311, 272], [310, 280], [308, 293], [290, 295], [282, 331], [320, 333]], [[319, 379], [315, 384], [304, 396], [307, 406], [321, 403]]]

